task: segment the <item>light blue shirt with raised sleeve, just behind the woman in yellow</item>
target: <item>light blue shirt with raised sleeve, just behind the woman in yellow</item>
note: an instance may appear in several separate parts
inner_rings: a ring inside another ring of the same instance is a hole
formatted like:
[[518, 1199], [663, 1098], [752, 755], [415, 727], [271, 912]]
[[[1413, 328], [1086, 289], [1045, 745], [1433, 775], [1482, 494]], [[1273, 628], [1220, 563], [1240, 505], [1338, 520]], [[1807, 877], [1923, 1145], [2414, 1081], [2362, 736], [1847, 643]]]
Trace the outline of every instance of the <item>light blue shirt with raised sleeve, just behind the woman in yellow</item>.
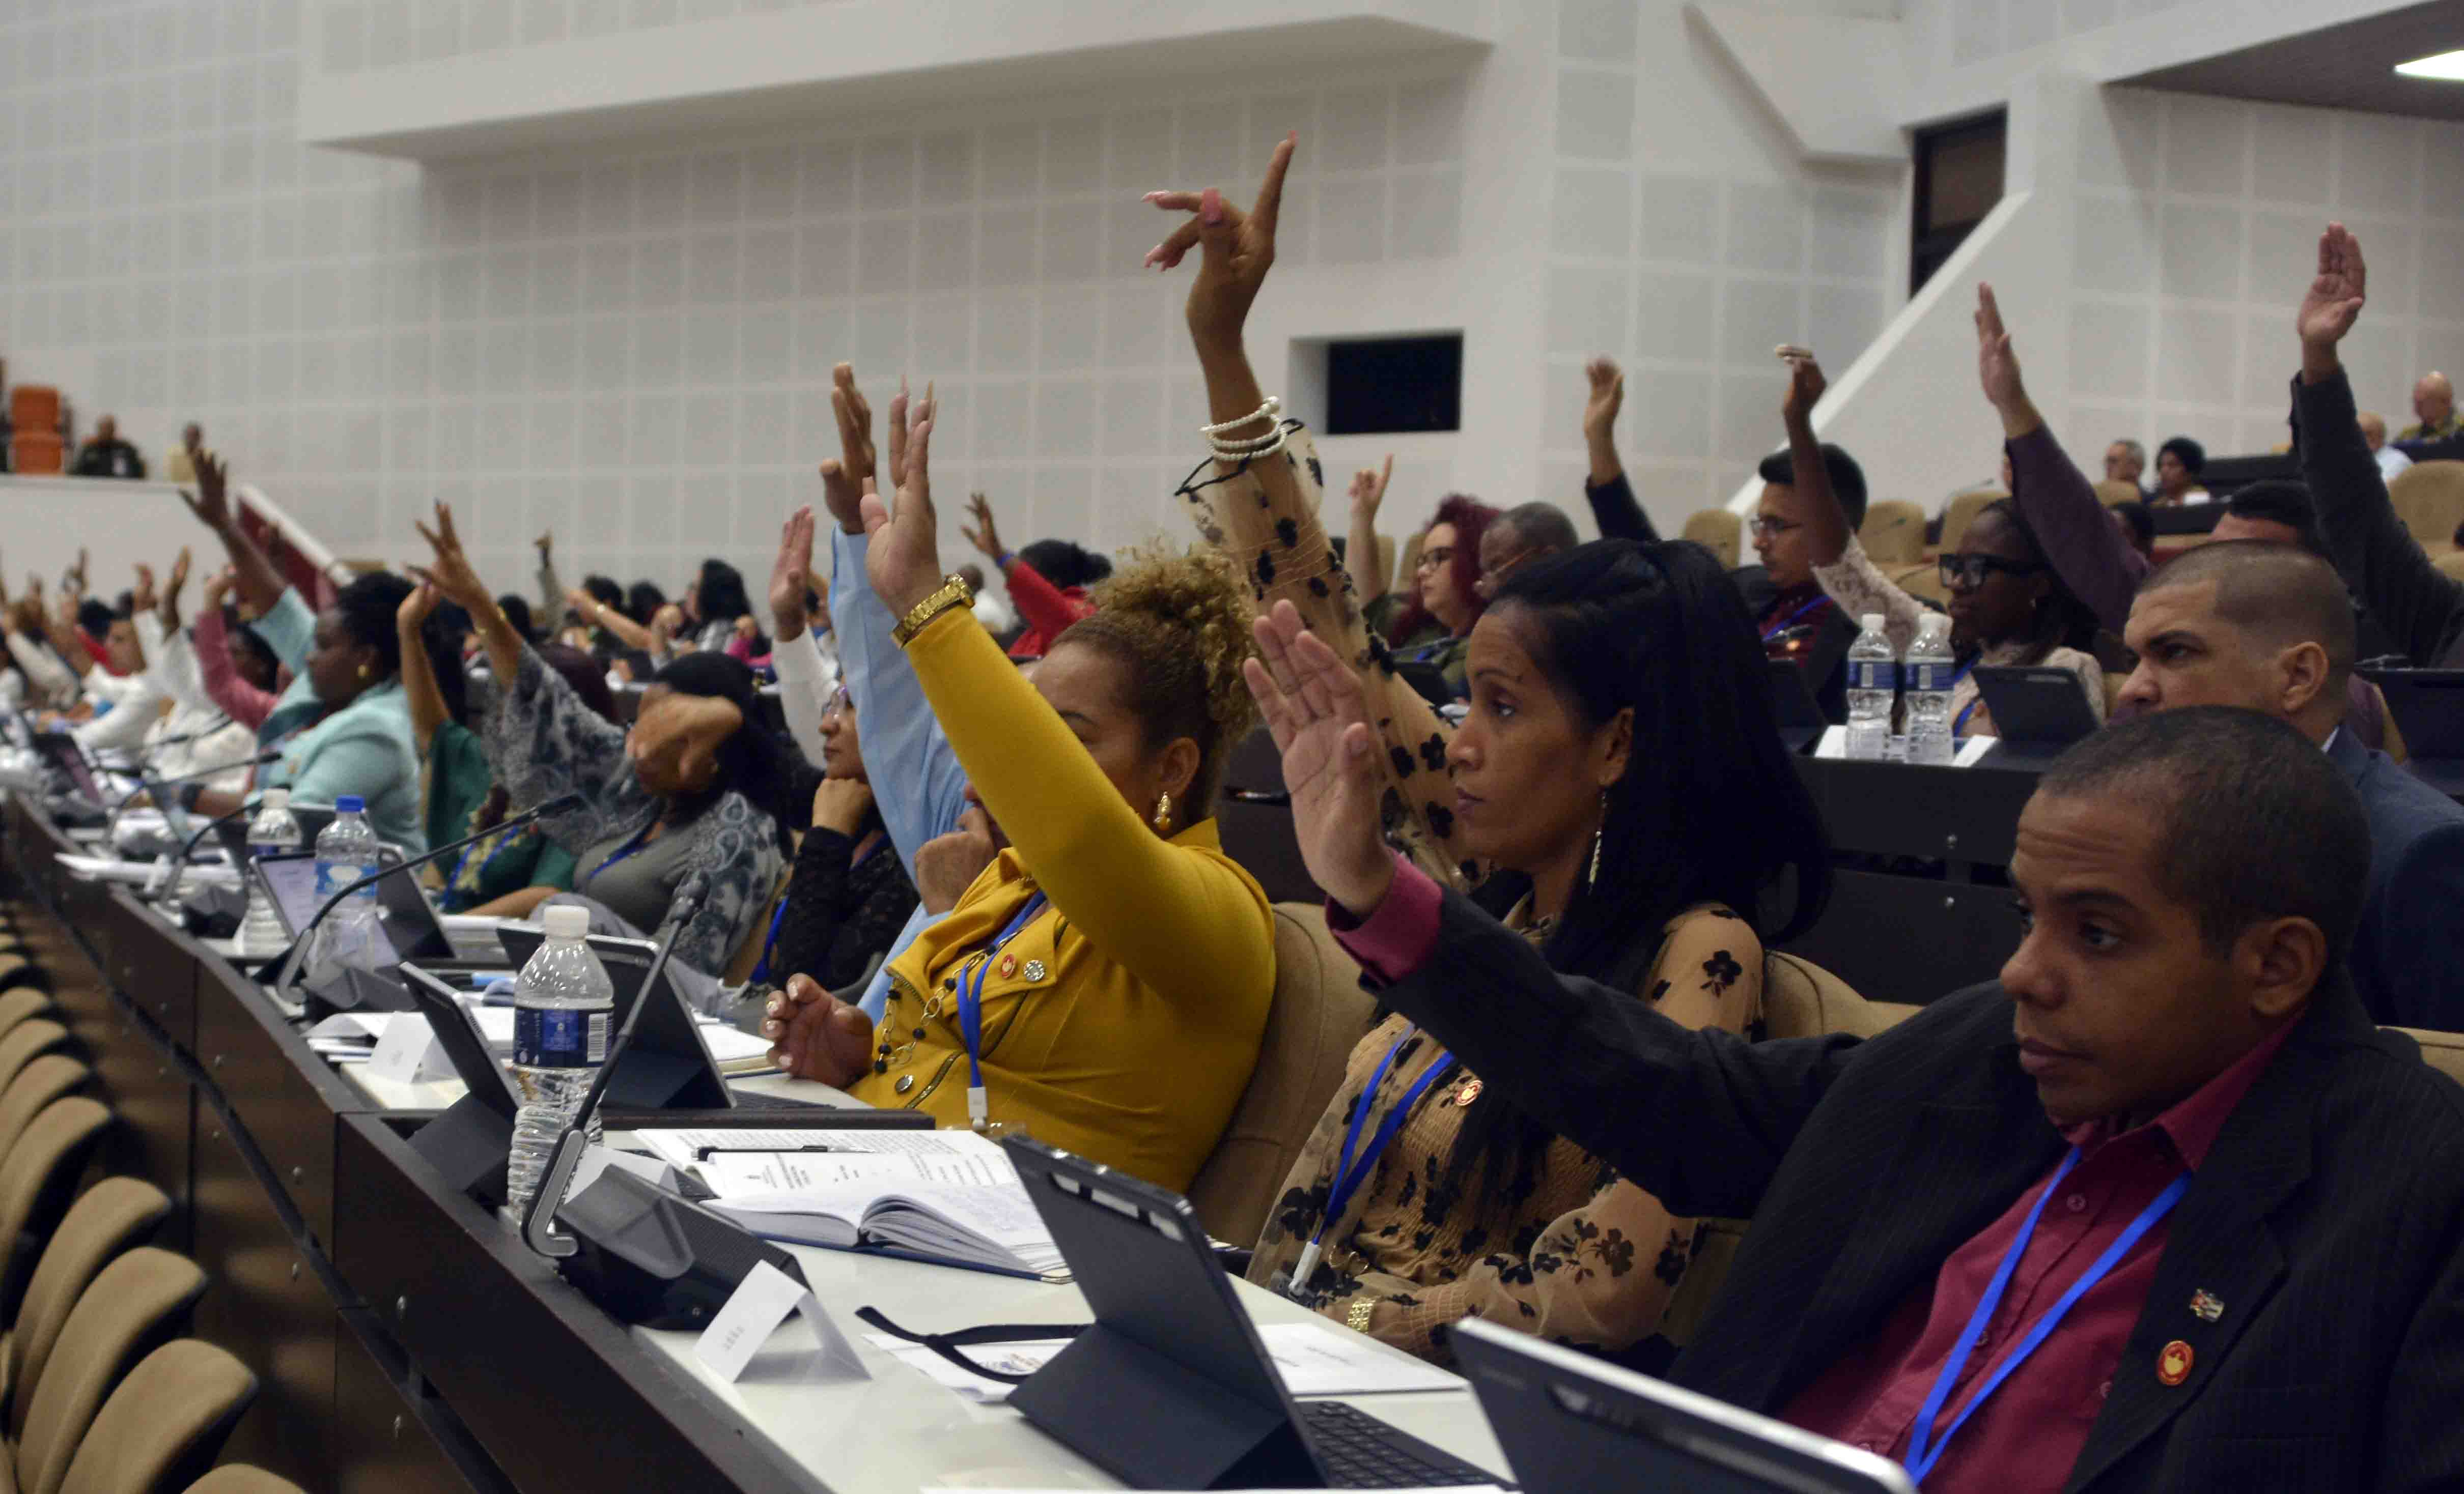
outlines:
[[[924, 699], [924, 682], [907, 665], [907, 650], [890, 630], [897, 618], [872, 596], [865, 578], [865, 537], [830, 529], [830, 618], [838, 623], [838, 669], [855, 701], [865, 731], [865, 778], [872, 780], [872, 805], [890, 829], [907, 876], [917, 874], [917, 849], [958, 829], [966, 812], [966, 768], [949, 748], [941, 721]], [[924, 903], [907, 916], [907, 928], [890, 945], [860, 1002], [875, 1021], [890, 1007], [890, 967], [917, 935], [939, 923]]]

